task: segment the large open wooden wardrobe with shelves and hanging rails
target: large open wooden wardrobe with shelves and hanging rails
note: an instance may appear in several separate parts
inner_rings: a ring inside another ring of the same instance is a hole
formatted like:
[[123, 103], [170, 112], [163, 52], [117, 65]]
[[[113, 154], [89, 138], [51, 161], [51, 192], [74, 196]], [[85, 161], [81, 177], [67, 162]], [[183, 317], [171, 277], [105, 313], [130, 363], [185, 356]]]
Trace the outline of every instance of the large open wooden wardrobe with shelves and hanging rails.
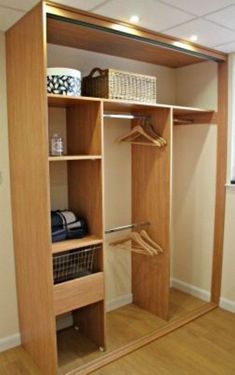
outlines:
[[[6, 47], [22, 344], [45, 375], [86, 374], [219, 303], [227, 56], [49, 2]], [[59, 65], [155, 75], [157, 103], [47, 94], [46, 67]], [[49, 156], [57, 132], [65, 154]], [[88, 235], [52, 243], [58, 209]], [[56, 278], [68, 259], [88, 272]], [[177, 290], [190, 282], [211, 284], [208, 303]]]

